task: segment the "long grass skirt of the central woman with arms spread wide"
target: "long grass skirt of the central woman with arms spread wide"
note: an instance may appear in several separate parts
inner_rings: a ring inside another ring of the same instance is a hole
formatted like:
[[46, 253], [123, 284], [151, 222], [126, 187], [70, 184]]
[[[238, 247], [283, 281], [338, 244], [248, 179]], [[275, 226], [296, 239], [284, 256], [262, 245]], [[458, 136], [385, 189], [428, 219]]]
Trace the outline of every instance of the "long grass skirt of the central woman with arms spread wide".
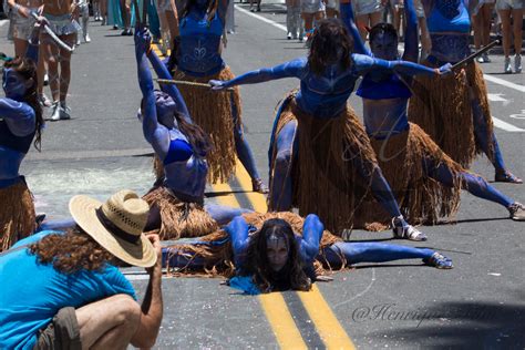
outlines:
[[[339, 116], [320, 120], [301, 112], [292, 94], [284, 104], [272, 135], [270, 184], [274, 178], [277, 135], [286, 123], [297, 120], [299, 146], [294, 155], [290, 174], [294, 206], [299, 208], [301, 216], [317, 214], [325, 227], [332, 233], [352, 228], [353, 214], [370, 192], [371, 176], [363, 177], [360, 173], [364, 171], [372, 174], [378, 166], [370, 140], [354, 111], [347, 106]], [[363, 171], [354, 168], [356, 158], [362, 159]], [[274, 195], [279, 194], [270, 193], [270, 196]]]

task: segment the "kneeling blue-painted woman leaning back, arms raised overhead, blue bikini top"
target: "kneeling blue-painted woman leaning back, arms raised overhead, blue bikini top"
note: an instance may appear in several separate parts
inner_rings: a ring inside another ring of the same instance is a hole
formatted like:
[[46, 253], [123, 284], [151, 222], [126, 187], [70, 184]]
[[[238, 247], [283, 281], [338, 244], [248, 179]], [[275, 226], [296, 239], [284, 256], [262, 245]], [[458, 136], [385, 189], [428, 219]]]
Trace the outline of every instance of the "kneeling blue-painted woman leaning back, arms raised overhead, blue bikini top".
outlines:
[[192, 123], [175, 85], [163, 86], [163, 91], [153, 89], [146, 55], [159, 78], [169, 79], [169, 72], [151, 50], [148, 32], [138, 28], [135, 32], [138, 84], [143, 94], [138, 117], [144, 137], [164, 167], [162, 182], [144, 196], [152, 207], [146, 229], [159, 229], [162, 239], [206, 235], [249, 210], [204, 206], [209, 138]]

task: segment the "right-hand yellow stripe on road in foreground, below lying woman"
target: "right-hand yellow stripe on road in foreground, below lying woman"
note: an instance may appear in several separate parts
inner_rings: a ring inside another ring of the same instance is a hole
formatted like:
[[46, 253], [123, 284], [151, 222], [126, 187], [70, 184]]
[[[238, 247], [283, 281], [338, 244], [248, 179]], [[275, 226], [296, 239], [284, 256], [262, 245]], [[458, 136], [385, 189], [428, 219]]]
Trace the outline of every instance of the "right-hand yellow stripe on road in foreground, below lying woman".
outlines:
[[297, 294], [328, 349], [356, 349], [316, 285], [311, 291]]

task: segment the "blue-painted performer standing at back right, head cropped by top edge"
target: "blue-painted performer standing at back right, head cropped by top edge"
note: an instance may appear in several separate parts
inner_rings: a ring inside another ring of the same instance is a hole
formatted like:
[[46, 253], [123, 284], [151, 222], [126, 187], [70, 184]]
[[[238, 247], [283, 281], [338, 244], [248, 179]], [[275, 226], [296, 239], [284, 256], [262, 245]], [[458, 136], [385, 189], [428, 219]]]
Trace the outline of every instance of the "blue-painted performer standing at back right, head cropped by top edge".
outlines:
[[[432, 50], [424, 64], [456, 63], [471, 54], [471, 20], [474, 1], [422, 0]], [[420, 125], [454, 161], [470, 168], [475, 155], [484, 153], [495, 168], [495, 181], [521, 184], [505, 166], [494, 134], [483, 72], [472, 61], [443, 80], [414, 81], [409, 119]]]

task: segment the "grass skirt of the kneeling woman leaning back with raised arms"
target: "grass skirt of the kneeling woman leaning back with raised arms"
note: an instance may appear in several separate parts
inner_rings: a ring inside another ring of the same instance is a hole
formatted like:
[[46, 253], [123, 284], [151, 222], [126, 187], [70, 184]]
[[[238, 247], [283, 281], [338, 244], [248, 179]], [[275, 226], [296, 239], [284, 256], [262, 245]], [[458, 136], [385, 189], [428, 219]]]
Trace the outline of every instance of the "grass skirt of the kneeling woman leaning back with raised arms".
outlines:
[[161, 240], [205, 236], [219, 228], [202, 205], [182, 202], [166, 187], [154, 187], [143, 199], [161, 212]]

